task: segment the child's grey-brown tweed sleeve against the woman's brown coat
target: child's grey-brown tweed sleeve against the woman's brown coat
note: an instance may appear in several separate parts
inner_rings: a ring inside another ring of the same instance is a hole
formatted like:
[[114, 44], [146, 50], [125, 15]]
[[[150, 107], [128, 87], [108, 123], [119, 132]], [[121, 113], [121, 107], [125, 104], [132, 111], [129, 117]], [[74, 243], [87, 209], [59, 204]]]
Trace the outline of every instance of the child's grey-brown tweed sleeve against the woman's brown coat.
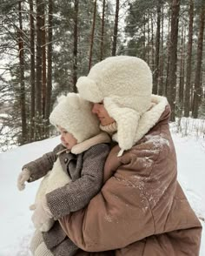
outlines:
[[84, 152], [81, 178], [47, 193], [47, 202], [55, 219], [82, 209], [101, 190], [108, 154], [109, 145], [92, 146]]

